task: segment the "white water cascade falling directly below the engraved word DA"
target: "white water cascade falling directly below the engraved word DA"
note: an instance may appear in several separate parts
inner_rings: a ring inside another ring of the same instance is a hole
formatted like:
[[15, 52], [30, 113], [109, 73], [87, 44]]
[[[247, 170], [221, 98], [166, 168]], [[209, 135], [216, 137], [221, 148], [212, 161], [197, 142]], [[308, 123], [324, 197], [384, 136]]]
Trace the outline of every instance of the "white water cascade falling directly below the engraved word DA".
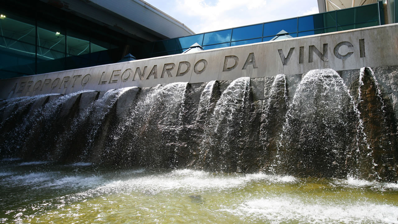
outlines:
[[205, 168], [240, 171], [247, 130], [245, 114], [250, 109], [250, 78], [242, 77], [221, 94], [203, 138], [201, 161]]

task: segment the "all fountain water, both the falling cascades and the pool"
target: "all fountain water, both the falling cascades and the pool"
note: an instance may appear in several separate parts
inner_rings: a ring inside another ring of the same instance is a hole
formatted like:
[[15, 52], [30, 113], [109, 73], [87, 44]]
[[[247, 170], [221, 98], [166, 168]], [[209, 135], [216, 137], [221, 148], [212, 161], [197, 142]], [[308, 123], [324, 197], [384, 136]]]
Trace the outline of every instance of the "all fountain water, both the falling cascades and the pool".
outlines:
[[385, 76], [2, 101], [0, 223], [398, 224]]

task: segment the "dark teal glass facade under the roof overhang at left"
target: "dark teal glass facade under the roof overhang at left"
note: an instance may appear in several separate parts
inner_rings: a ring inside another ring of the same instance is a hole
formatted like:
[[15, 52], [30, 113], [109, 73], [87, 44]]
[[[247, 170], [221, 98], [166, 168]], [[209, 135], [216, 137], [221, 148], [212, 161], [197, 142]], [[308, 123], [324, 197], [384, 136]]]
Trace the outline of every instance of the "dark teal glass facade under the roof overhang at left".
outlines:
[[37, 0], [4, 2], [0, 13], [2, 79], [115, 63], [137, 44]]

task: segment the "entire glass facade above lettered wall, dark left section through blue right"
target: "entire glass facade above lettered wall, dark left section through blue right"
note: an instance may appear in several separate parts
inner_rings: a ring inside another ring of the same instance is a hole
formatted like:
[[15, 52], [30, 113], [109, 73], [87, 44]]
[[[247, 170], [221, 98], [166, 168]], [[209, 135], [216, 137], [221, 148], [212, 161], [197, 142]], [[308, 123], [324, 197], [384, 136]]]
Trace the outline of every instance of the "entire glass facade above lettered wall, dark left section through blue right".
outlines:
[[[0, 9], [0, 78], [115, 63], [127, 53], [137, 59], [179, 54], [194, 43], [206, 50], [270, 41], [281, 30], [302, 37], [378, 26], [384, 24], [380, 3], [142, 43], [40, 0], [5, 2]], [[397, 1], [392, 4], [396, 12]]]

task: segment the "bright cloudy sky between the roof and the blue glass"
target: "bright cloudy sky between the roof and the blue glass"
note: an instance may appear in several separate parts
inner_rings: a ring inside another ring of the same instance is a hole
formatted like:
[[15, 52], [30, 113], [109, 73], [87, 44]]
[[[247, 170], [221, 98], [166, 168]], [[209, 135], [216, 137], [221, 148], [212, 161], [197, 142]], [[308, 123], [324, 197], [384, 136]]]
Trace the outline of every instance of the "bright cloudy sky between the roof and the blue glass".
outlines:
[[145, 0], [195, 33], [318, 13], [317, 0]]

